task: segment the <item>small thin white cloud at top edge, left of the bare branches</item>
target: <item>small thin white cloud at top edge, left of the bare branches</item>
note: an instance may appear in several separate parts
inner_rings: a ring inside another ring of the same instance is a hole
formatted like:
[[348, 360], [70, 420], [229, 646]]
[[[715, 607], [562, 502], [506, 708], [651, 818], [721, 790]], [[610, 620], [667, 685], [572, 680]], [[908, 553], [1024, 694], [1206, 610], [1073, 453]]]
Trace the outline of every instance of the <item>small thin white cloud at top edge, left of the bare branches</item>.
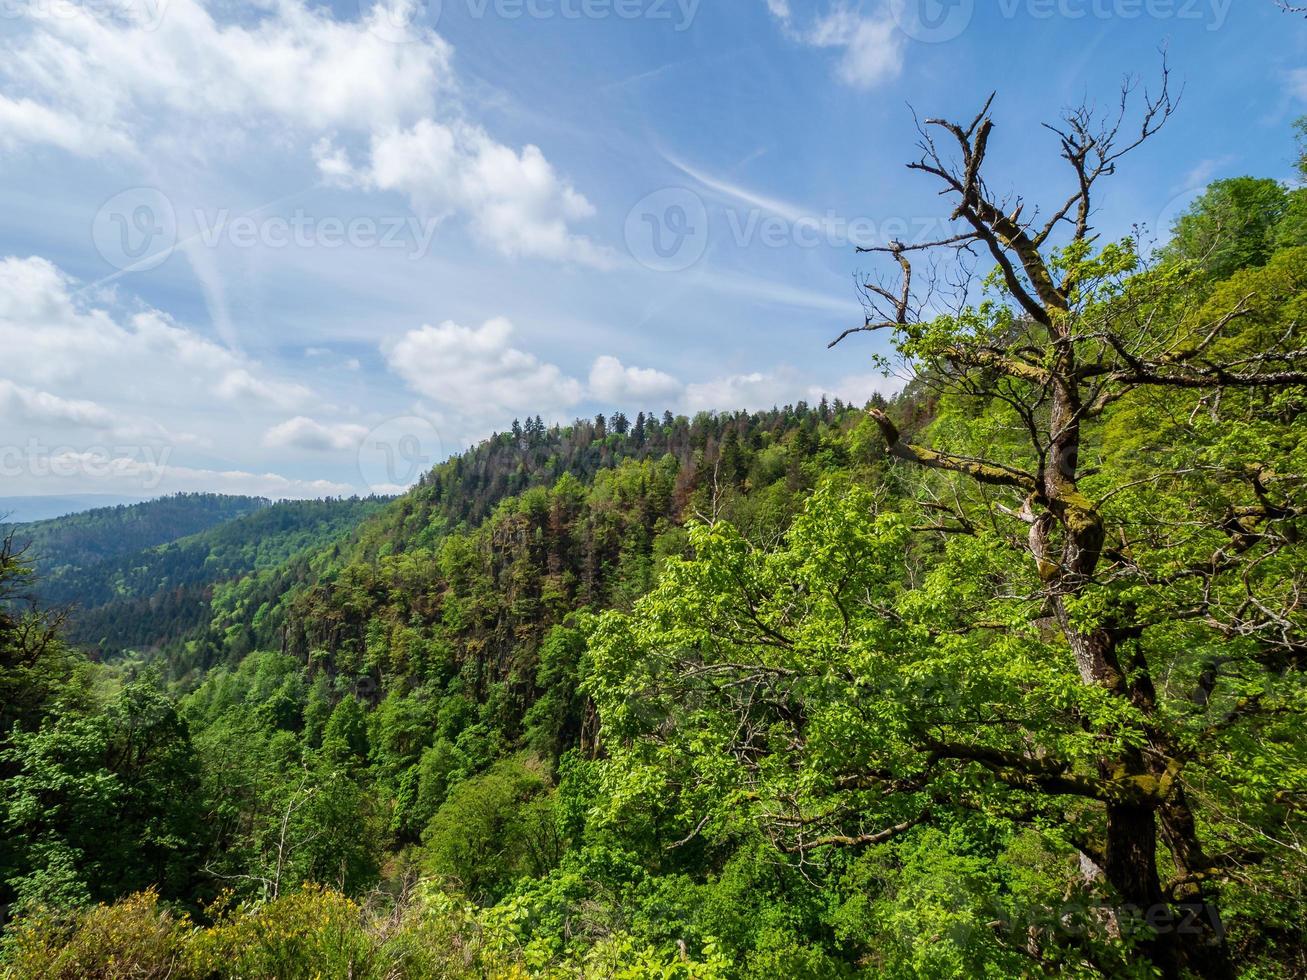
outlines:
[[795, 25], [788, 0], [766, 0], [766, 4], [791, 41], [840, 52], [835, 73], [846, 85], [870, 89], [893, 81], [903, 71], [907, 39], [886, 3], [878, 3], [873, 13], [865, 14], [839, 0], [806, 26]]

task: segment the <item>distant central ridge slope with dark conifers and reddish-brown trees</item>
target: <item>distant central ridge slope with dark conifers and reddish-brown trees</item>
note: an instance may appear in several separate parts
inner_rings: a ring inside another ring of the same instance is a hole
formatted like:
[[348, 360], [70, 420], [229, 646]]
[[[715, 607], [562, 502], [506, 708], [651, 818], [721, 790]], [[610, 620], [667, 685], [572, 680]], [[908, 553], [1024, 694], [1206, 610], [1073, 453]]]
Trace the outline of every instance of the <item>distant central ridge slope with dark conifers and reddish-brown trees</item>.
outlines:
[[[234, 664], [254, 648], [323, 649], [379, 679], [393, 670], [369, 660], [367, 644], [392, 645], [396, 621], [440, 621], [451, 591], [493, 606], [460, 622], [529, 648], [520, 630], [538, 642], [563, 613], [644, 595], [661, 558], [684, 547], [686, 516], [742, 508], [741, 523], [779, 534], [823, 468], [848, 461], [823, 433], [857, 417], [822, 401], [694, 419], [617, 413], [566, 429], [515, 422], [339, 546], [221, 589], [193, 665]], [[374, 618], [387, 610], [379, 640]]]

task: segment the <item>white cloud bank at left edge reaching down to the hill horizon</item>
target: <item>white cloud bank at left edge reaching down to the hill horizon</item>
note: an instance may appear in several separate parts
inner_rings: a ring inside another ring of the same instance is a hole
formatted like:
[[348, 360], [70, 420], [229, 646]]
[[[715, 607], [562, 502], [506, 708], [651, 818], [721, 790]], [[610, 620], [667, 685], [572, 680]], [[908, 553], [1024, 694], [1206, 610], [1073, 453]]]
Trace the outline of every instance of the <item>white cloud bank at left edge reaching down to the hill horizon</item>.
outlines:
[[10, 493], [352, 491], [251, 460], [261, 449], [353, 449], [363, 426], [281, 421], [286, 406], [322, 402], [166, 314], [122, 314], [76, 289], [46, 259], [0, 259], [0, 480]]

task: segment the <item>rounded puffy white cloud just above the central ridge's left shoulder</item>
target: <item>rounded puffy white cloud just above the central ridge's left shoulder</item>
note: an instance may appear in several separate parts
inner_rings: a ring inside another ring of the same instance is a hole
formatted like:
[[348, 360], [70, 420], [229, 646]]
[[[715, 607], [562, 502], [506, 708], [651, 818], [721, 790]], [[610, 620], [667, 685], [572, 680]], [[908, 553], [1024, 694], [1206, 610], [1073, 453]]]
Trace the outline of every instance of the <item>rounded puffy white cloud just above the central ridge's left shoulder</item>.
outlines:
[[584, 395], [575, 378], [514, 348], [512, 333], [503, 318], [481, 327], [446, 321], [409, 331], [383, 353], [395, 374], [440, 406], [457, 436], [471, 439], [505, 427], [514, 414], [552, 414]]

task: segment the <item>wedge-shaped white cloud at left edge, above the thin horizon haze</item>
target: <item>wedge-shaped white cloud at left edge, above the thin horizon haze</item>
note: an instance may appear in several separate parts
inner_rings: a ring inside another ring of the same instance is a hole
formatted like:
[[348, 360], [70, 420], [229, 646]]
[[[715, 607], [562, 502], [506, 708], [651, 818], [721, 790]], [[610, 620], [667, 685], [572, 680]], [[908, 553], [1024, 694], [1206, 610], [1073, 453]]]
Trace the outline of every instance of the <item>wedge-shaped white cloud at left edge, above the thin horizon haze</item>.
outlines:
[[[0, 259], [0, 447], [50, 452], [112, 440], [137, 451], [247, 452], [256, 442], [250, 427], [277, 421], [269, 413], [327, 408], [308, 387], [163, 312], [116, 314], [76, 289], [46, 259]], [[48, 474], [25, 464], [16, 478], [24, 476], [55, 493]]]

